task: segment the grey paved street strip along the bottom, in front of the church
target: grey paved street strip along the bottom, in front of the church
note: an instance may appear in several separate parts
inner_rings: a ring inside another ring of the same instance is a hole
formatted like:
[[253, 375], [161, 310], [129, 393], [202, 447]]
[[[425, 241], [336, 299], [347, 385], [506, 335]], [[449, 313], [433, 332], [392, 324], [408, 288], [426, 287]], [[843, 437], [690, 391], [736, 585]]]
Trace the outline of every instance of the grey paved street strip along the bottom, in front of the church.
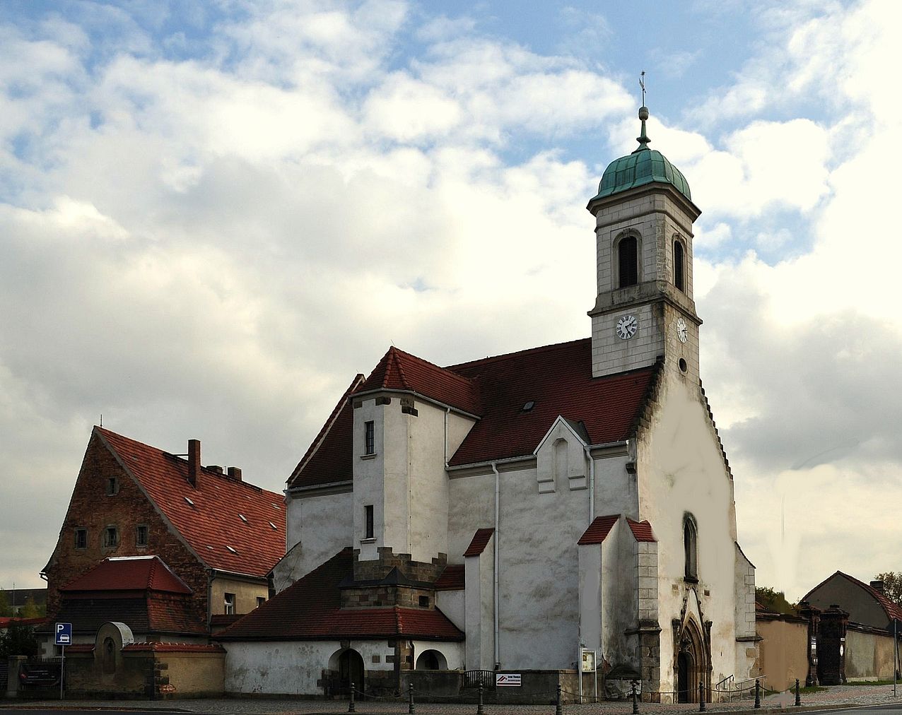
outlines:
[[[902, 704], [902, 683], [893, 695], [892, 685], [835, 685], [823, 692], [802, 693], [802, 709], [839, 708], [851, 705], [878, 705], [897, 702]], [[549, 699], [549, 702], [551, 700]], [[763, 698], [761, 710], [752, 710], [750, 700], [736, 702], [708, 703], [708, 712], [730, 712], [739, 715], [741, 712], [765, 715], [768, 712], [793, 707], [795, 695], [789, 692], [777, 693]], [[474, 703], [415, 703], [417, 715], [474, 715]], [[258, 698], [218, 698], [205, 700], [170, 700], [170, 701], [5, 701], [0, 705], [15, 708], [58, 708], [97, 710], [115, 708], [128, 710], [183, 710], [198, 713], [223, 713], [223, 715], [306, 715], [306, 713], [345, 713], [347, 701], [336, 700], [303, 700], [303, 699], [258, 699]], [[406, 699], [392, 701], [357, 701], [358, 715], [377, 713], [403, 715], [408, 711]], [[640, 712], [649, 715], [667, 715], [668, 713], [697, 712], [697, 704], [673, 705], [651, 702], [640, 703]], [[796, 710], [797, 711], [797, 710]], [[548, 713], [554, 715], [555, 706], [548, 705], [485, 705], [485, 715], [533, 715]], [[585, 703], [583, 705], [565, 705], [564, 715], [631, 715], [632, 704], [628, 701], [604, 701]]]

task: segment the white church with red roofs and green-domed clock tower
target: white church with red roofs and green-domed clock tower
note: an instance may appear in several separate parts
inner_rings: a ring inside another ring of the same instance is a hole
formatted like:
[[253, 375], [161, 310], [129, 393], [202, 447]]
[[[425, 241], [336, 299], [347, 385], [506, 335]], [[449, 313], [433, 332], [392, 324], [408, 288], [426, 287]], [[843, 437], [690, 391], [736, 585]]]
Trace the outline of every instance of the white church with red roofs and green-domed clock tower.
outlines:
[[220, 636], [226, 691], [585, 651], [650, 700], [754, 674], [754, 566], [699, 378], [700, 210], [639, 116], [587, 206], [591, 336], [445, 367], [391, 347], [357, 375], [288, 480], [279, 592]]

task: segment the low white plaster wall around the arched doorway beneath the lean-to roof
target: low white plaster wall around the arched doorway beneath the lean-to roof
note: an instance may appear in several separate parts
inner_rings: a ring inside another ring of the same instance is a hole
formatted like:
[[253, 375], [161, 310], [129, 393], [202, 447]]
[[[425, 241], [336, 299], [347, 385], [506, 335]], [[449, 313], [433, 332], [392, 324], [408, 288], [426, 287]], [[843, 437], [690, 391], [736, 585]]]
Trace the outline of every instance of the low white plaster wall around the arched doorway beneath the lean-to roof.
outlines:
[[[342, 648], [337, 641], [225, 642], [226, 692], [321, 695], [317, 685], [329, 658]], [[386, 655], [394, 648], [385, 640], [351, 641], [364, 658], [365, 673], [391, 670]], [[379, 663], [373, 663], [373, 655]]]

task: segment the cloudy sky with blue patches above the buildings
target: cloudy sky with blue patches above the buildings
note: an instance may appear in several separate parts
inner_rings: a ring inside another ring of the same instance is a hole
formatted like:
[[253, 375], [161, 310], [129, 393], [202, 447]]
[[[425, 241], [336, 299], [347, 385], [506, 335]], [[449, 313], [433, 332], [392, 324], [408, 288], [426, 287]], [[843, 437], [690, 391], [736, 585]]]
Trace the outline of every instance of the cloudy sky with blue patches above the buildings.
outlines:
[[0, 586], [101, 415], [279, 491], [391, 344], [589, 335], [643, 70], [759, 585], [902, 570], [902, 5], [526, 5], [0, 3]]

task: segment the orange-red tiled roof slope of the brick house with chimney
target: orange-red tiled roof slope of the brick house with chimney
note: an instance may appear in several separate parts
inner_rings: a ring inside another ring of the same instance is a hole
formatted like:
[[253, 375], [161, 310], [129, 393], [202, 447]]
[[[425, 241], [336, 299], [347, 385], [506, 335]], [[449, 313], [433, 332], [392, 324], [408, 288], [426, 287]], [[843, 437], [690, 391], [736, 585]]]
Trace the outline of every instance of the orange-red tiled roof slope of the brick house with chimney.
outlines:
[[192, 487], [187, 460], [102, 427], [94, 431], [207, 566], [263, 578], [285, 555], [281, 494], [207, 468]]

